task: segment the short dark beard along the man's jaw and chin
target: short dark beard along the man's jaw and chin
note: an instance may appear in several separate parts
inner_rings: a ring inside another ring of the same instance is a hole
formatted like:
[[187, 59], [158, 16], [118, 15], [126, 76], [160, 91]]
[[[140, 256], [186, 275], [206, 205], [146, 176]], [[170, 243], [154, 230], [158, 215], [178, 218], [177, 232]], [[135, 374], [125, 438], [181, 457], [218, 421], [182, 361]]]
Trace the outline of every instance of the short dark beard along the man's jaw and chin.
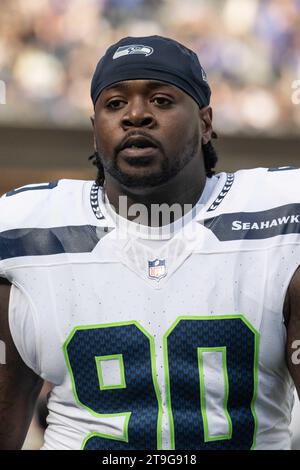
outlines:
[[[147, 174], [147, 166], [144, 166], [144, 174], [140, 176], [125, 173], [118, 165], [117, 154], [114, 155], [113, 159], [107, 160], [101, 146], [98, 149], [98, 168], [101, 174], [104, 168], [104, 172], [116, 179], [122, 186], [128, 188], [153, 188], [167, 183], [177, 176], [193, 158], [199, 156], [199, 153], [199, 132], [197, 130], [191, 139], [187, 141], [181, 153], [177, 153], [169, 159], [164, 155], [160, 169], [156, 172], [148, 172]], [[103, 168], [100, 168], [100, 165]]]

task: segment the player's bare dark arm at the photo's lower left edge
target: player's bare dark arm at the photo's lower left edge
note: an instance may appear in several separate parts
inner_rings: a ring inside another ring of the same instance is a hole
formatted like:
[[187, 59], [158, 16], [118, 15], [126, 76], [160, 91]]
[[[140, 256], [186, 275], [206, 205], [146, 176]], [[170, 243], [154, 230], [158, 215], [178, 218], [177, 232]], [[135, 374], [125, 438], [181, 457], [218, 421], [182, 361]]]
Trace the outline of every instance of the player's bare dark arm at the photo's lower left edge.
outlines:
[[9, 293], [10, 286], [0, 283], [0, 340], [6, 350], [6, 364], [0, 364], [0, 450], [21, 449], [43, 385], [13, 343], [8, 325]]

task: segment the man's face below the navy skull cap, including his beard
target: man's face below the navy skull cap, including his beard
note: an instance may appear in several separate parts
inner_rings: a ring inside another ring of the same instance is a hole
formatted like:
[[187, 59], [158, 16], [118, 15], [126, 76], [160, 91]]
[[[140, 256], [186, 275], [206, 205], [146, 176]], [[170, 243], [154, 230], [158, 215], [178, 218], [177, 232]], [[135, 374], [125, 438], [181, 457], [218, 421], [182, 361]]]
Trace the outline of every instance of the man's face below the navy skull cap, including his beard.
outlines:
[[106, 88], [95, 108], [94, 132], [105, 171], [131, 188], [153, 187], [201, 157], [203, 120], [179, 88], [128, 80]]

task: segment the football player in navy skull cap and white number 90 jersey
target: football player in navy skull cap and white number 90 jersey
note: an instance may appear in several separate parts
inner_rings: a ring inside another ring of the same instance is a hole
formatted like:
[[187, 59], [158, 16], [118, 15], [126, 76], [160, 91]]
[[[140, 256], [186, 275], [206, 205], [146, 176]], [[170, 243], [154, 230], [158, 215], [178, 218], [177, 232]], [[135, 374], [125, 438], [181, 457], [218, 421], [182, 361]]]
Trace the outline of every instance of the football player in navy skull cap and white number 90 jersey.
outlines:
[[0, 447], [47, 380], [44, 449], [291, 448], [300, 171], [214, 174], [210, 87], [174, 40], [112, 45], [91, 96], [96, 182], [0, 200]]

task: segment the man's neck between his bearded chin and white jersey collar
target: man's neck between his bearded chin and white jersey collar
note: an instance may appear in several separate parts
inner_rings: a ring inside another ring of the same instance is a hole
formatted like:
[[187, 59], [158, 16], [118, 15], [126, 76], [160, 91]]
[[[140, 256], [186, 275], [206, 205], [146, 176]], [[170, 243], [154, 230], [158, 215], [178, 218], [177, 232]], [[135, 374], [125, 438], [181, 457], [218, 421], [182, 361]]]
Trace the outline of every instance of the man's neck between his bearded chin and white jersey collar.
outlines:
[[[164, 211], [168, 212], [166, 223], [172, 223], [195, 206], [205, 182], [203, 160], [198, 158], [194, 158], [167, 183], [151, 188], [124, 187], [110, 175], [105, 175], [106, 194], [114, 210], [128, 220], [136, 220], [138, 213], [139, 223], [153, 227], [165, 225], [163, 216], [157, 218], [157, 212], [153, 211], [154, 206], [163, 205]], [[133, 207], [137, 204], [142, 207], [142, 211], [138, 206]], [[168, 211], [168, 208], [171, 210]], [[153, 212], [156, 217], [153, 217]]]

